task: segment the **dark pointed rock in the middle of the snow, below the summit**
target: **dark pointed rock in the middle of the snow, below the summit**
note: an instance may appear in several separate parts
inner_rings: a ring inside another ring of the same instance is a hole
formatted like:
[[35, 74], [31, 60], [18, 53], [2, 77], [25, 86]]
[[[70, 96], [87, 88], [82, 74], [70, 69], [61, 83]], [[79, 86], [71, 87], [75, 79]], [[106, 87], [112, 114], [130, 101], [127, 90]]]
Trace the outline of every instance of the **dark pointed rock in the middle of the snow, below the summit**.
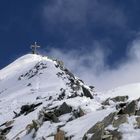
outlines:
[[68, 106], [65, 102], [58, 108], [54, 111], [55, 115], [57, 117], [63, 115], [63, 114], [66, 114], [66, 113], [70, 113], [72, 111], [72, 107], [71, 106]]

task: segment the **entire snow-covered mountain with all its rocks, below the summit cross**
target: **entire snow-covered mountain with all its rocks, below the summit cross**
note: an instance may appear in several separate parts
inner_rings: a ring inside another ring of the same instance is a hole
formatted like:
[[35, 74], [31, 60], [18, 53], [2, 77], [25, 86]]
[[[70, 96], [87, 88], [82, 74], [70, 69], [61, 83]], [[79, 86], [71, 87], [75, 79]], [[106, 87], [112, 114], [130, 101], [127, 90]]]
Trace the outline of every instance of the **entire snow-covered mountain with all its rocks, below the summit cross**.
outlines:
[[139, 92], [96, 93], [63, 62], [27, 54], [0, 70], [0, 140], [140, 140]]

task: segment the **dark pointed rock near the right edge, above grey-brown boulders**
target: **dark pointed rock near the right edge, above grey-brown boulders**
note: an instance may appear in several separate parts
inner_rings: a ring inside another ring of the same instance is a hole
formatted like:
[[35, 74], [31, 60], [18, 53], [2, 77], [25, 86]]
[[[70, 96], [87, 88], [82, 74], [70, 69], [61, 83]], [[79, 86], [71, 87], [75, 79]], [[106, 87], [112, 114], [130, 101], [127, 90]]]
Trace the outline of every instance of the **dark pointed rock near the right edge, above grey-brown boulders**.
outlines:
[[133, 100], [124, 109], [121, 109], [119, 114], [135, 115], [137, 104], [138, 102], [136, 100]]

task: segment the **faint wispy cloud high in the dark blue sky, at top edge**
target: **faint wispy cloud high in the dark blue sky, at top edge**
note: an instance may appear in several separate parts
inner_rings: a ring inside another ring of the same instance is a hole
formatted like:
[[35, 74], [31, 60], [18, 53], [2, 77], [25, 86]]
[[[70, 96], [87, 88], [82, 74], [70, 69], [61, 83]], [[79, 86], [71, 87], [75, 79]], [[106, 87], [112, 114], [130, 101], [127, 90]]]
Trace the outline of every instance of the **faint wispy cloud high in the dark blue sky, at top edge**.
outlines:
[[98, 0], [51, 0], [43, 7], [43, 17], [51, 26], [126, 26], [126, 17], [120, 7]]

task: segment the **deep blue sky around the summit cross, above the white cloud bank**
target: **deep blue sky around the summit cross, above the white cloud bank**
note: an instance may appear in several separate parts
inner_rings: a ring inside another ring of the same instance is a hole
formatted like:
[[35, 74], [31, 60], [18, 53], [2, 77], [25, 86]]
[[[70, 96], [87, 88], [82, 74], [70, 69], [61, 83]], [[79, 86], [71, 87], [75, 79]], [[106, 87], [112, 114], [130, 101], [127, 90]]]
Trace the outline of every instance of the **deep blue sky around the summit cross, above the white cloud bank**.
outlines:
[[[0, 68], [29, 53], [37, 41], [40, 53], [59, 57], [66, 65], [65, 54], [80, 57], [84, 69], [99, 59], [102, 70], [118, 69], [132, 60], [130, 46], [138, 42], [139, 5], [138, 0], [1, 0]], [[96, 51], [101, 58], [95, 59]], [[81, 76], [72, 63], [68, 67]], [[102, 72], [94, 69], [95, 75]]]

